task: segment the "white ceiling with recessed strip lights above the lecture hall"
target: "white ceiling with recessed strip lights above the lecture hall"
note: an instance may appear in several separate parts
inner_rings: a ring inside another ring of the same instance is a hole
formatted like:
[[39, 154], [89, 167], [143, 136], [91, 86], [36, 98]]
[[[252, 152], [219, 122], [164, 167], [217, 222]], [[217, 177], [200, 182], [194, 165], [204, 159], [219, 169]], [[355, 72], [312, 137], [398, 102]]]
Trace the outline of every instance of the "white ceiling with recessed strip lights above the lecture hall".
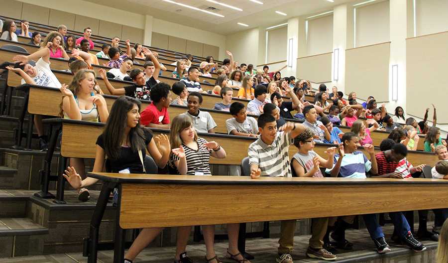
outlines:
[[[263, 4], [249, 0], [216, 0], [229, 4], [243, 11], [231, 9], [207, 0], [173, 0], [200, 9], [209, 6], [220, 9], [216, 13], [219, 17], [199, 10], [190, 9], [163, 0], [88, 0], [98, 4], [126, 10], [129, 12], [148, 14], [155, 18], [179, 23], [203, 30], [228, 35], [237, 31], [247, 30], [258, 26], [272, 26], [285, 22], [288, 18], [331, 10], [334, 6], [352, 0], [259, 0]], [[275, 13], [281, 11], [287, 16]], [[241, 22], [249, 27], [238, 25]]]

